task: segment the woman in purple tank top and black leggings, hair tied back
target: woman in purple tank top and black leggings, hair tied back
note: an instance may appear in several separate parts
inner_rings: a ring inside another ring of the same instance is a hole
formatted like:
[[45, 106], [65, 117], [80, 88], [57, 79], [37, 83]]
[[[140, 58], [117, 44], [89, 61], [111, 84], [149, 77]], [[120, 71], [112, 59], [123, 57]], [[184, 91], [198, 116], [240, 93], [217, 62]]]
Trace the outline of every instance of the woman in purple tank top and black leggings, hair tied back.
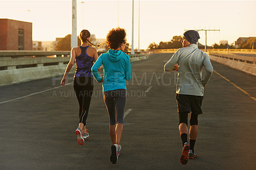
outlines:
[[71, 58], [63, 75], [63, 79], [61, 80], [61, 85], [65, 85], [68, 72], [70, 72], [76, 60], [76, 73], [73, 81], [74, 90], [76, 91], [76, 97], [79, 102], [79, 125], [76, 130], [76, 135], [77, 143], [83, 145], [84, 139], [89, 137], [89, 133], [86, 129], [86, 119], [93, 93], [92, 65], [93, 61], [98, 59], [98, 53], [95, 48], [89, 47], [91, 34], [88, 30], [83, 29], [79, 38], [82, 45], [72, 48]]

